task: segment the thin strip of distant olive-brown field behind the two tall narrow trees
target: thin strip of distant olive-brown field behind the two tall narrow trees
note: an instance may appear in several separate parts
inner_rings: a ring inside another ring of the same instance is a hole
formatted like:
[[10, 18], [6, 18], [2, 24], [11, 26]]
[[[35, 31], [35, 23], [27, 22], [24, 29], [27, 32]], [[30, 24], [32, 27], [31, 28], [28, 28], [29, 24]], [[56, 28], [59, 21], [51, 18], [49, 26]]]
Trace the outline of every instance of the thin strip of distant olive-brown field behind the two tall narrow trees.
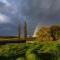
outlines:
[[[36, 38], [33, 38], [33, 37], [27, 37], [27, 38], [26, 38], [27, 41], [30, 41], [30, 40], [33, 41], [33, 40], [35, 40], [35, 39], [36, 39]], [[2, 40], [3, 40], [3, 41], [5, 41], [5, 40], [8, 40], [8, 41], [9, 41], [9, 40], [19, 40], [19, 38], [18, 38], [17, 36], [16, 36], [16, 37], [13, 37], [13, 36], [12, 36], [12, 37], [10, 37], [10, 36], [9, 36], [9, 37], [8, 37], [8, 36], [4, 37], [4, 36], [3, 36], [3, 37], [0, 37], [0, 41], [2, 41]], [[20, 40], [25, 40], [25, 38], [24, 38], [24, 37], [21, 37]]]

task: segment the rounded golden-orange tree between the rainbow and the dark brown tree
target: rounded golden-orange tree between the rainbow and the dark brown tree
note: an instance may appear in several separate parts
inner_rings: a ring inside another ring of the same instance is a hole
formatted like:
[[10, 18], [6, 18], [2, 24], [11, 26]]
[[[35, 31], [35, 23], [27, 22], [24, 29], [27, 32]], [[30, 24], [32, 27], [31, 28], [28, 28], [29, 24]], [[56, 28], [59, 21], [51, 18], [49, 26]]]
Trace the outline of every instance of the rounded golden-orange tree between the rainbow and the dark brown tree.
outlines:
[[39, 41], [51, 41], [52, 37], [50, 35], [50, 29], [46, 27], [42, 27], [39, 29], [39, 31], [36, 33], [37, 40]]

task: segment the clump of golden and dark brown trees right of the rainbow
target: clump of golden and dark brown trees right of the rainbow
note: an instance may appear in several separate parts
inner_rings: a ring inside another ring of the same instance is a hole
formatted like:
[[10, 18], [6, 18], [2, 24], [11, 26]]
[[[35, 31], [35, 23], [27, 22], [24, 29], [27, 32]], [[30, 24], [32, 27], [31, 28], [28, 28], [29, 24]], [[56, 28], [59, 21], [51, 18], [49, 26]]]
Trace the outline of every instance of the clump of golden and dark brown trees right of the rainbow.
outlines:
[[39, 41], [55, 41], [60, 39], [60, 26], [42, 27], [36, 33]]

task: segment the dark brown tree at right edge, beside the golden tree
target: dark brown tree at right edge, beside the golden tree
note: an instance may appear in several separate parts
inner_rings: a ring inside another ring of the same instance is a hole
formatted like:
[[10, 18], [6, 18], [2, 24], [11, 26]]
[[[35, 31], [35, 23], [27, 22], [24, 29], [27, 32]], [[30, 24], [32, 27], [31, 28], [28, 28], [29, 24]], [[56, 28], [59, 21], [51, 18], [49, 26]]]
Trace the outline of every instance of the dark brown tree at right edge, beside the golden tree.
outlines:
[[53, 25], [50, 27], [50, 31], [53, 40], [58, 40], [60, 38], [60, 26]]

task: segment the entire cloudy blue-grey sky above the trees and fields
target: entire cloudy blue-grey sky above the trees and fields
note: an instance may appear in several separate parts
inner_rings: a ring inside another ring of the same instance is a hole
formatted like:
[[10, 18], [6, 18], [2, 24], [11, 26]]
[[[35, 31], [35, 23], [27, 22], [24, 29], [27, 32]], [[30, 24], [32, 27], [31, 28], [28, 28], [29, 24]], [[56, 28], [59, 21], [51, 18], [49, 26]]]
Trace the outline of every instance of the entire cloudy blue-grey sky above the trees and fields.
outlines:
[[0, 35], [17, 35], [18, 20], [23, 34], [25, 16], [29, 35], [38, 24], [60, 24], [60, 0], [0, 0]]

